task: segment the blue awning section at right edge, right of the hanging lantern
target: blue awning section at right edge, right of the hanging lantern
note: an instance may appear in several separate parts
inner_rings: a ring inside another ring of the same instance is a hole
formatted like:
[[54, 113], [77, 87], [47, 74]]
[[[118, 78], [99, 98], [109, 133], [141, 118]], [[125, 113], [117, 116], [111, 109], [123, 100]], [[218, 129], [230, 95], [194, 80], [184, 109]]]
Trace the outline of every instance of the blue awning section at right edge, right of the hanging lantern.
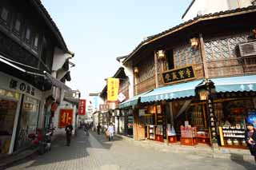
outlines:
[[256, 91], [256, 75], [213, 78], [216, 92]]

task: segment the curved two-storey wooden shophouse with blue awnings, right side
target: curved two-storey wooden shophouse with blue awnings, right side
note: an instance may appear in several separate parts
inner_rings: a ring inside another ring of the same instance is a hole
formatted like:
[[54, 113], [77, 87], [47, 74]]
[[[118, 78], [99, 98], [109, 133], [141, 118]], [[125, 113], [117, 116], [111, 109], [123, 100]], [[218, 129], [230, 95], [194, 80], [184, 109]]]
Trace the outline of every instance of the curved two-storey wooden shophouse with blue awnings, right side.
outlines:
[[246, 148], [256, 109], [256, 7], [227, 10], [150, 36], [134, 69], [134, 139]]

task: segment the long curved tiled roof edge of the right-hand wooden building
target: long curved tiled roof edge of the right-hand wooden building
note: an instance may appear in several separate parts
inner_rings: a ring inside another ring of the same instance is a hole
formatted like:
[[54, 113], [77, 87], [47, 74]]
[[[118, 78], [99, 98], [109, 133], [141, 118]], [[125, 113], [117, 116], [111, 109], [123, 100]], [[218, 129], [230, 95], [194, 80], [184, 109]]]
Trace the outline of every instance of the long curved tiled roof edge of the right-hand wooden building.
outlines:
[[134, 55], [134, 53], [136, 53], [136, 51], [138, 49], [140, 49], [143, 45], [146, 45], [146, 44], [149, 44], [150, 42], [153, 42], [154, 39], [158, 39], [158, 38], [162, 38], [164, 36], [166, 36], [167, 34], [170, 34], [172, 31], [175, 31], [175, 30], [178, 30], [178, 29], [182, 29], [182, 26], [186, 26], [186, 25], [189, 25], [189, 24], [193, 24], [193, 22], [199, 22], [200, 20], [208, 20], [210, 18], [217, 18], [217, 17], [220, 17], [222, 15], [226, 15], [226, 14], [236, 14], [236, 13], [240, 13], [240, 12], [250, 12], [250, 10], [253, 10], [252, 12], [255, 12], [256, 11], [256, 6], [248, 6], [246, 8], [238, 8], [238, 9], [235, 9], [235, 10], [226, 10], [226, 11], [220, 11], [220, 12], [216, 12], [214, 14], [205, 14], [205, 15], [202, 15], [202, 16], [198, 16], [194, 19], [190, 19], [189, 21], [187, 22], [182, 22], [181, 24], [179, 24], [178, 26], [174, 26], [172, 28], [170, 28], [169, 30], [165, 30], [163, 31], [162, 33], [159, 33], [159, 34], [155, 34], [155, 35], [152, 35], [150, 37], [148, 37], [146, 40], [142, 41], [133, 51], [132, 53], [130, 53], [128, 55], [128, 57], [126, 58], [125, 61], [123, 61], [124, 63], [126, 61], [128, 61], [130, 59], [130, 57], [132, 57]]

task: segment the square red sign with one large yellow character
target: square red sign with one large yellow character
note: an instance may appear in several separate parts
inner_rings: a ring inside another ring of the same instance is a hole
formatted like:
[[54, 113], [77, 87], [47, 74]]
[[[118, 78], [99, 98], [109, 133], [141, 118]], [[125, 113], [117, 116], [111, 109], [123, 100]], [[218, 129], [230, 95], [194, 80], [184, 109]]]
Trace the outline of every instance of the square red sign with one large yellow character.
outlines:
[[58, 117], [58, 128], [65, 128], [73, 121], [73, 109], [60, 109]]

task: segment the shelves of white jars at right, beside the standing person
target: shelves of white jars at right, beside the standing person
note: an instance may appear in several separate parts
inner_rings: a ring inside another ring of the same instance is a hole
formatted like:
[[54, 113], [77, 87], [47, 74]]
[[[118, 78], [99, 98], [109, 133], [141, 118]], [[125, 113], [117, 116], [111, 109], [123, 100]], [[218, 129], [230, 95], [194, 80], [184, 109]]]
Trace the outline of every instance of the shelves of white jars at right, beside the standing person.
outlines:
[[229, 148], [247, 148], [244, 125], [223, 125], [219, 127], [221, 144]]

